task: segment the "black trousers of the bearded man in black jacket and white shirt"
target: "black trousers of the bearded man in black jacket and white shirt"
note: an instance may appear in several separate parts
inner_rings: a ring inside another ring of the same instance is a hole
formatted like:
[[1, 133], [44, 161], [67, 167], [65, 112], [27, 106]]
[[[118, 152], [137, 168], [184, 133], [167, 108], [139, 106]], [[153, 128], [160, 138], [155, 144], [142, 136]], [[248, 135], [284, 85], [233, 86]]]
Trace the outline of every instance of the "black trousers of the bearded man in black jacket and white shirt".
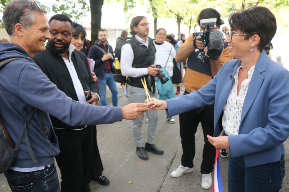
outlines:
[[60, 154], [56, 157], [61, 172], [61, 192], [87, 192], [92, 157], [92, 128], [54, 129]]

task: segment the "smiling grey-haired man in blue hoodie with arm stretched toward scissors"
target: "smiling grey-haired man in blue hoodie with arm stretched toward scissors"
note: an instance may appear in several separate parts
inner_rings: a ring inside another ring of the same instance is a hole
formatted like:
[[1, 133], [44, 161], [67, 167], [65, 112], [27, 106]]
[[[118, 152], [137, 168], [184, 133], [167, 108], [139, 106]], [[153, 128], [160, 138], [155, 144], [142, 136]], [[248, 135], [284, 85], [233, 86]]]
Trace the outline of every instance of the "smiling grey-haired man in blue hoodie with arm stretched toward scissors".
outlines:
[[135, 119], [148, 110], [144, 104], [100, 107], [82, 104], [57, 89], [33, 61], [34, 53], [45, 50], [50, 39], [46, 11], [30, 0], [10, 1], [5, 5], [3, 22], [11, 43], [0, 43], [0, 61], [20, 57], [0, 69], [0, 114], [15, 144], [28, 114], [36, 107], [27, 135], [38, 164], [33, 163], [23, 139], [14, 164], [4, 173], [11, 191], [59, 192], [54, 157], [59, 154], [57, 137], [49, 119], [51, 114], [71, 126], [114, 123]]

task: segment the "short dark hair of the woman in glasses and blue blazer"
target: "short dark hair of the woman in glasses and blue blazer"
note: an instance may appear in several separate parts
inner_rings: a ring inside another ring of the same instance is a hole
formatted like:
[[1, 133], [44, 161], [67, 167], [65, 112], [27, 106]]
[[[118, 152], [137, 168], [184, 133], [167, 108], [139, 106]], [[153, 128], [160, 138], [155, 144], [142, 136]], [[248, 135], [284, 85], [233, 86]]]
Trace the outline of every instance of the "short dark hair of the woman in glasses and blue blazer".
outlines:
[[270, 43], [277, 31], [276, 18], [266, 7], [257, 6], [238, 13], [232, 13], [228, 20], [231, 29], [239, 29], [247, 34], [244, 35], [247, 40], [252, 35], [259, 35], [259, 51], [262, 51], [263, 47]]

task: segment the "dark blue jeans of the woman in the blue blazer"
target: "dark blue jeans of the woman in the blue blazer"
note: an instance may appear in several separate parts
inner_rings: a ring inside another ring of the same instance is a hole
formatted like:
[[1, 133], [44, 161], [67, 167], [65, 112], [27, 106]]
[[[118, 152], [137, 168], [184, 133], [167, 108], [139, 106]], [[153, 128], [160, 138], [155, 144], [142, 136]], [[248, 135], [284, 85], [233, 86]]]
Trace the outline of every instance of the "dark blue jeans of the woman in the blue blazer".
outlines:
[[246, 167], [243, 157], [232, 158], [228, 167], [229, 192], [277, 192], [285, 175], [284, 154], [280, 161]]

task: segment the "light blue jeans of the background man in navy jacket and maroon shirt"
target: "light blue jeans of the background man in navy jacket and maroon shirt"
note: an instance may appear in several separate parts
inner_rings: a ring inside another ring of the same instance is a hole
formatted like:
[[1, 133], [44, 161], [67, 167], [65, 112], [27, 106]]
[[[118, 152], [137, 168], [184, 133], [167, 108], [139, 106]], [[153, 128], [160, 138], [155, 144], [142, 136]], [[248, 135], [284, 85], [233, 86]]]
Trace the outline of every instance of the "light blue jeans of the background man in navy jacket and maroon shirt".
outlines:
[[99, 88], [100, 92], [100, 102], [101, 106], [106, 106], [106, 85], [108, 85], [110, 91], [111, 91], [111, 100], [112, 100], [112, 105], [114, 107], [117, 107], [117, 83], [113, 80], [113, 73], [104, 73], [103, 78], [97, 79], [97, 85]]

